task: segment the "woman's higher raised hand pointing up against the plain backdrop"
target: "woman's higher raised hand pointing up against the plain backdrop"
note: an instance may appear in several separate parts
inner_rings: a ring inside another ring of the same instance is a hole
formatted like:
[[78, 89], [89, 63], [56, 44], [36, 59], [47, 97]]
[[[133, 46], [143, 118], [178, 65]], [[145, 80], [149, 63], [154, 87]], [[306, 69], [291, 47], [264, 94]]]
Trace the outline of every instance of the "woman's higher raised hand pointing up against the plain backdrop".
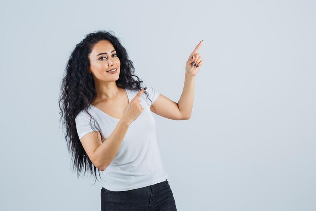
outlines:
[[192, 54], [189, 56], [189, 59], [185, 65], [185, 73], [186, 74], [189, 74], [191, 76], [195, 76], [198, 73], [198, 71], [200, 70], [200, 68], [203, 64], [203, 60], [202, 60], [202, 57], [200, 56], [200, 54], [197, 53], [197, 51], [201, 47], [202, 43], [203, 43], [203, 41], [200, 41], [200, 43], [195, 47]]

